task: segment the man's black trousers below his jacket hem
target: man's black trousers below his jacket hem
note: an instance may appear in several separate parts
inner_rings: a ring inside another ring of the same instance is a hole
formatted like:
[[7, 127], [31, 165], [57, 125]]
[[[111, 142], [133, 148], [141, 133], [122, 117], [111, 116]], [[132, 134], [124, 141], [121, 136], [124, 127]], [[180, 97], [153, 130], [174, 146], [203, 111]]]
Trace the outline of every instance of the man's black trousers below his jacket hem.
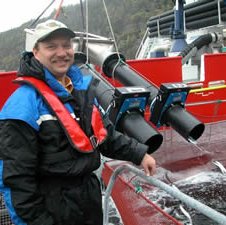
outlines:
[[100, 183], [94, 174], [77, 178], [45, 177], [43, 181], [40, 190], [56, 225], [103, 224]]

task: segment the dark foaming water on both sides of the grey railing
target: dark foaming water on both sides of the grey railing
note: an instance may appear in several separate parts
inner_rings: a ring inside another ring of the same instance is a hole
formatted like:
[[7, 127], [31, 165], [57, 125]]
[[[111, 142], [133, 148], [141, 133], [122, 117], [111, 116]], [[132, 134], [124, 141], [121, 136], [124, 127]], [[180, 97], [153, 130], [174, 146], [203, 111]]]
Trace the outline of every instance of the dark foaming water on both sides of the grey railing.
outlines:
[[[226, 175], [219, 172], [202, 172], [174, 182], [174, 185], [183, 193], [226, 215]], [[218, 224], [157, 188], [145, 194], [164, 211], [185, 225]], [[189, 213], [191, 220], [184, 215], [180, 205]]]

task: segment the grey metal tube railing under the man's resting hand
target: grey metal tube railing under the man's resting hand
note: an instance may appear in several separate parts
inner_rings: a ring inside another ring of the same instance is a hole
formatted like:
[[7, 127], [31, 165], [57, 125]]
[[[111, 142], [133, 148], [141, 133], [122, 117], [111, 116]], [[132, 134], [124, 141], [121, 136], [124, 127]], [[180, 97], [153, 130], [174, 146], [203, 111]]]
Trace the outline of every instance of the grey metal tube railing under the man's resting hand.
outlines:
[[132, 165], [124, 164], [115, 169], [115, 171], [112, 173], [110, 180], [107, 185], [107, 189], [105, 191], [104, 196], [104, 225], [108, 225], [108, 212], [109, 212], [109, 199], [112, 192], [112, 189], [114, 187], [115, 181], [117, 180], [117, 177], [122, 173], [124, 170], [129, 170], [130, 172], [133, 172], [140, 178], [144, 179], [149, 184], [158, 187], [171, 196], [181, 200], [183, 203], [185, 203], [188, 207], [191, 207], [203, 215], [207, 216], [208, 218], [212, 219], [213, 221], [219, 223], [219, 224], [226, 224], [226, 216], [217, 212], [216, 210], [212, 209], [211, 207], [201, 203], [200, 201], [190, 197], [189, 195], [184, 194], [179, 189], [177, 189], [174, 186], [170, 186], [159, 179], [156, 179], [153, 176], [146, 176], [144, 172]]

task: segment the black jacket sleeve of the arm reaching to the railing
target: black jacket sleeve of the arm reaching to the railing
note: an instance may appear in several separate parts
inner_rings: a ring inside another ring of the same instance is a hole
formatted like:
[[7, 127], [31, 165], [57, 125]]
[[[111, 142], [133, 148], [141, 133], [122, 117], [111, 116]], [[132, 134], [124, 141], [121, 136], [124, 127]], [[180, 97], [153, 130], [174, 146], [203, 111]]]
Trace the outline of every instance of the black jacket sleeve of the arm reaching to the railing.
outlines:
[[109, 158], [130, 161], [140, 165], [144, 155], [148, 151], [148, 146], [139, 143], [134, 138], [130, 138], [116, 131], [111, 122], [106, 122], [108, 138], [100, 147], [100, 152]]

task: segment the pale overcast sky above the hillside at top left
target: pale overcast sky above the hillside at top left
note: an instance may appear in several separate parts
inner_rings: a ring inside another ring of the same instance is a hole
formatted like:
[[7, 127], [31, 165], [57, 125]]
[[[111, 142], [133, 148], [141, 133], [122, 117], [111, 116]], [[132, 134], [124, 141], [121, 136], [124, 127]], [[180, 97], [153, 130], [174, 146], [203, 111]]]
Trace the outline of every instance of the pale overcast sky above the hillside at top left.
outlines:
[[[0, 0], [0, 32], [19, 27], [21, 24], [36, 19], [52, 0]], [[43, 17], [58, 8], [61, 0], [55, 0]], [[63, 6], [77, 4], [79, 0], [64, 0]]]

